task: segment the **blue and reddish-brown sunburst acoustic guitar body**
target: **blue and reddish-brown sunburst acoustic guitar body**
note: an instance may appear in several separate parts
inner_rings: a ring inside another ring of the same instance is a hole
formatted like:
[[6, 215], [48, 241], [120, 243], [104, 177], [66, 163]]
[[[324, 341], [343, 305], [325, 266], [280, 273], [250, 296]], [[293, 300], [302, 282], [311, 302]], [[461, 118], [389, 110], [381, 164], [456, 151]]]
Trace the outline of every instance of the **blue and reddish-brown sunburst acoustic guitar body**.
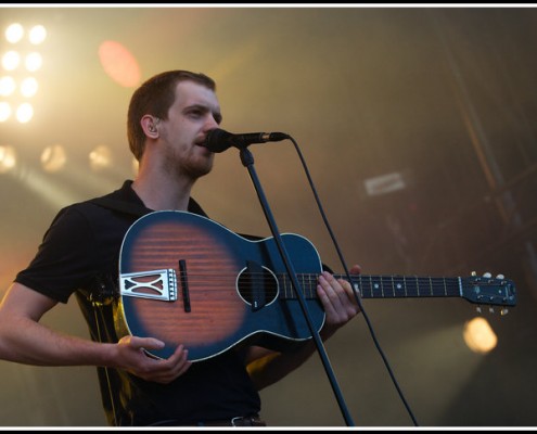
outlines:
[[[321, 271], [307, 239], [282, 240], [297, 273]], [[245, 343], [284, 349], [311, 337], [299, 302], [280, 296], [294, 291], [277, 278], [285, 272], [273, 239], [250, 241], [191, 213], [151, 213], [122, 245], [119, 315], [128, 333], [165, 342], [155, 357], [170, 356], [180, 344], [192, 361]], [[305, 297], [320, 330], [324, 311], [316, 294]]]

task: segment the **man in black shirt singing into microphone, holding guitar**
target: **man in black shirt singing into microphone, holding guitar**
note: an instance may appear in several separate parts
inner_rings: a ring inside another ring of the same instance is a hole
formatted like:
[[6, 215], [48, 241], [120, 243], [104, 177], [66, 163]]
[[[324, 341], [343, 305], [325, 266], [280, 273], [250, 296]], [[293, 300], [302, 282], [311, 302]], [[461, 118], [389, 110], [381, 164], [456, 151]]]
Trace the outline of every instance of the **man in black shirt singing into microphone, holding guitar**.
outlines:
[[[210, 173], [215, 152], [286, 138], [283, 133], [230, 135], [219, 129], [221, 119], [215, 82], [203, 74], [169, 71], [142, 84], [132, 94], [127, 115], [130, 151], [139, 162], [137, 176], [104, 196], [59, 210], [34, 259], [14, 276], [0, 306], [0, 358], [49, 367], [94, 366], [110, 425], [264, 426], [259, 391], [315, 353], [314, 343], [306, 340], [280, 350], [248, 342], [199, 361], [189, 359], [189, 347], [179, 344], [169, 357], [154, 357], [151, 353], [163, 348], [163, 339], [131, 334], [117, 324], [125, 314], [118, 288], [130, 284], [118, 271], [122, 243], [135, 221], [162, 210], [207, 217], [191, 190]], [[192, 242], [194, 235], [187, 235]], [[189, 265], [178, 267], [188, 270]], [[351, 268], [359, 271], [358, 266]], [[186, 305], [189, 288], [182, 276], [180, 298], [143, 303], [158, 309]], [[167, 281], [163, 278], [163, 282]], [[257, 294], [264, 283], [254, 282], [252, 291]], [[165, 283], [163, 292], [164, 288]], [[72, 295], [91, 339], [40, 322]], [[317, 295], [325, 312], [322, 340], [359, 314], [350, 285], [328, 271], [319, 272]], [[218, 304], [213, 305], [218, 310]], [[197, 315], [195, 303], [189, 309], [182, 314]]]

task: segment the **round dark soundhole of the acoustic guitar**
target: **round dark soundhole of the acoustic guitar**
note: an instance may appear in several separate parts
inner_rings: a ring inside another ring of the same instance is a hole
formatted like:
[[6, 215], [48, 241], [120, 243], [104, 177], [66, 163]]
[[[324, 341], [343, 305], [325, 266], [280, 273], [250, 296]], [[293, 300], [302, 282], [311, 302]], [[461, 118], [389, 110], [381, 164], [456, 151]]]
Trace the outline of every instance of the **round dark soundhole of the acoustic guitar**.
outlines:
[[278, 296], [278, 279], [265, 267], [248, 265], [242, 270], [236, 283], [241, 297], [253, 310], [269, 305]]

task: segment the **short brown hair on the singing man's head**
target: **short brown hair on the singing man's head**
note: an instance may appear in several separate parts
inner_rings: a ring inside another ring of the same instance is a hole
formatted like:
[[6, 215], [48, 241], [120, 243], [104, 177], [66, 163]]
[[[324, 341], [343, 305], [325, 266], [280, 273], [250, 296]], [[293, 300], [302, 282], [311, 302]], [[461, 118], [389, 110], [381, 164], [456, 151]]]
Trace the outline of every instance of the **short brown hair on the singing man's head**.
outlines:
[[127, 138], [136, 159], [140, 161], [145, 149], [145, 133], [140, 119], [146, 114], [167, 119], [168, 110], [176, 99], [176, 86], [183, 80], [194, 81], [213, 91], [216, 90], [215, 81], [205, 74], [175, 69], [151, 77], [132, 94], [127, 114]]

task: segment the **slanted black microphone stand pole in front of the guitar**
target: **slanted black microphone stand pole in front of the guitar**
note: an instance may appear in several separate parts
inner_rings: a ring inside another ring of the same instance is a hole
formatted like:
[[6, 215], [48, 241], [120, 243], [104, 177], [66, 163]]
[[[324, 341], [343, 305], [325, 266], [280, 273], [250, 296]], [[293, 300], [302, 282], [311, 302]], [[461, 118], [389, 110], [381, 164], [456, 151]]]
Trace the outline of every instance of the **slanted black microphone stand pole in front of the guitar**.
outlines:
[[315, 344], [317, 346], [317, 350], [319, 355], [321, 356], [321, 360], [324, 367], [324, 370], [327, 371], [327, 374], [330, 379], [330, 384], [332, 386], [332, 390], [334, 391], [334, 394], [337, 399], [337, 404], [340, 405], [340, 408], [342, 410], [343, 417], [345, 418], [345, 422], [347, 423], [347, 426], [354, 426], [353, 420], [350, 419], [350, 416], [348, 413], [348, 410], [346, 409], [345, 403], [342, 397], [342, 393], [340, 391], [340, 387], [337, 385], [337, 382], [335, 380], [334, 373], [332, 368], [330, 367], [330, 362], [327, 357], [327, 353], [324, 350], [324, 347], [322, 345], [321, 337], [319, 336], [319, 332], [315, 330], [312, 326], [311, 318], [309, 316], [307, 306], [306, 306], [306, 301], [304, 299], [304, 294], [302, 292], [302, 289], [298, 284], [298, 279], [296, 277], [296, 272], [293, 268], [293, 265], [291, 264], [291, 260], [289, 258], [289, 254], [285, 250], [285, 246], [283, 245], [280, 232], [278, 230], [278, 227], [276, 225], [274, 218], [272, 216], [272, 213], [270, 210], [270, 207], [268, 205], [268, 201], [265, 196], [265, 193], [263, 191], [263, 188], [259, 183], [259, 178], [257, 177], [256, 170], [254, 168], [254, 156], [250, 152], [250, 150], [244, 146], [240, 148], [240, 155], [241, 155], [241, 162], [243, 166], [245, 166], [248, 169], [250, 177], [252, 178], [252, 182], [254, 183], [255, 190], [257, 192], [257, 196], [259, 197], [259, 202], [261, 204], [263, 210], [265, 213], [265, 217], [267, 218], [267, 221], [269, 224], [270, 230], [272, 232], [272, 235], [274, 238], [274, 241], [278, 245], [278, 250], [280, 251], [280, 255], [283, 259], [283, 263], [285, 265], [285, 269], [287, 270], [287, 275], [291, 279], [291, 282], [293, 284], [293, 289], [296, 293], [297, 299], [301, 303], [301, 308], [304, 312], [306, 322], [309, 327], [309, 330], [311, 332], [311, 336], [314, 337]]

